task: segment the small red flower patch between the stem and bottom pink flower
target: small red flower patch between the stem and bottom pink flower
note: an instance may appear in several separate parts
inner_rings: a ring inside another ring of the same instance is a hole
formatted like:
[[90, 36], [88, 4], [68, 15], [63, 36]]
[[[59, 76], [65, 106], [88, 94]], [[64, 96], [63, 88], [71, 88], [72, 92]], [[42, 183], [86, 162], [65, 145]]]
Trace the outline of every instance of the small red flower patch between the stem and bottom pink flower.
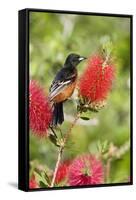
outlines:
[[70, 164], [71, 161], [65, 161], [60, 164], [56, 174], [56, 179], [55, 179], [56, 184], [59, 184], [61, 181], [64, 181], [67, 178]]

